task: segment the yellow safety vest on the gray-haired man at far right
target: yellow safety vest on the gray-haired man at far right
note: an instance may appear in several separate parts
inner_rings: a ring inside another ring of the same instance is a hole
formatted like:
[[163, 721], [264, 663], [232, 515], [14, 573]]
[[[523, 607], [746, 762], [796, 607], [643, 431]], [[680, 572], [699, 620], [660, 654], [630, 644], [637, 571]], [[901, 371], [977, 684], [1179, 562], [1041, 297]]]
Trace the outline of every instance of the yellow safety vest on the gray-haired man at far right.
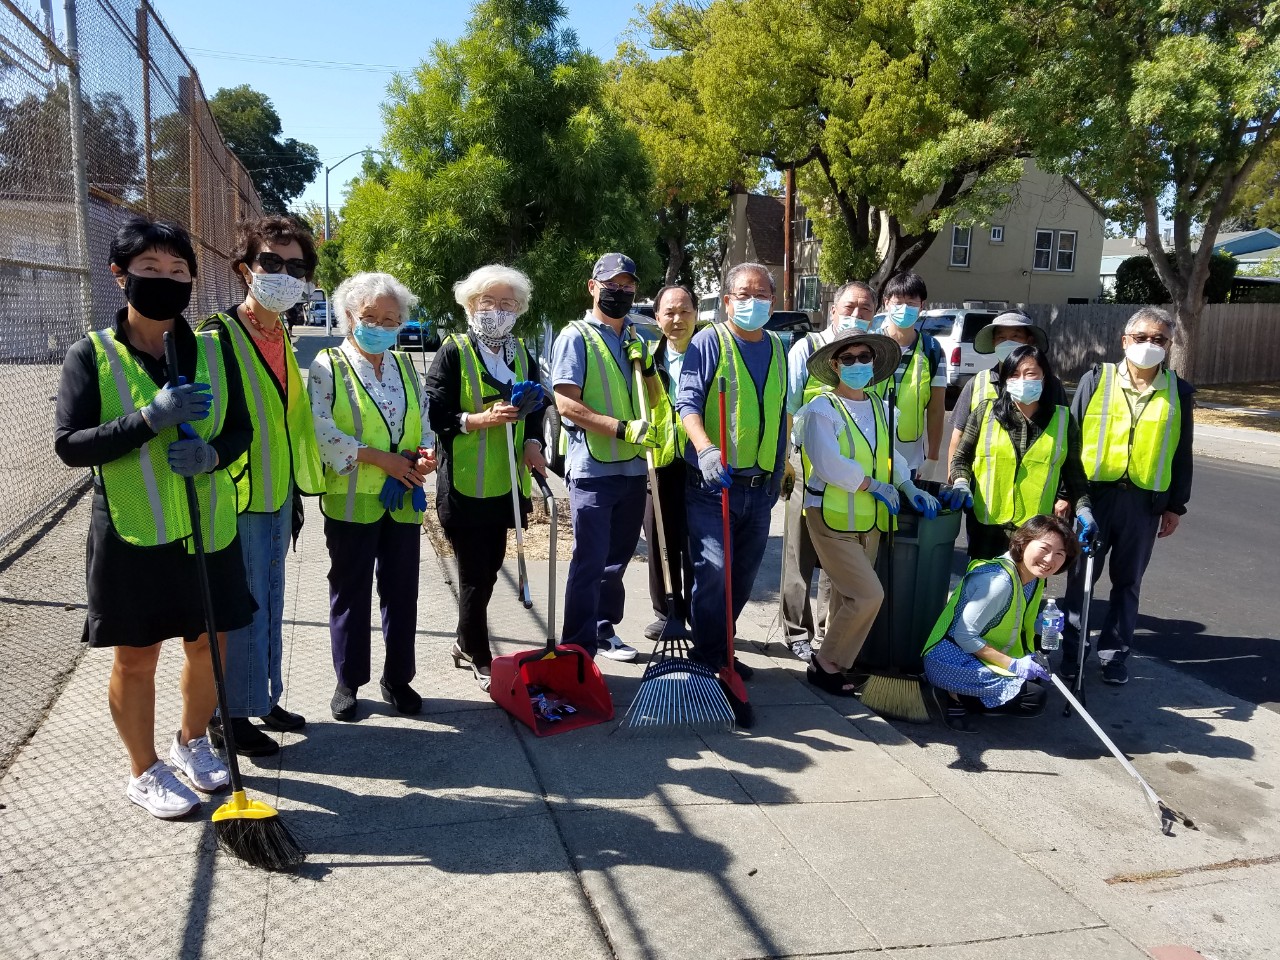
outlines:
[[1089, 480], [1114, 483], [1128, 477], [1143, 490], [1164, 493], [1181, 430], [1178, 376], [1172, 370], [1165, 371], [1165, 389], [1152, 394], [1134, 422], [1119, 367], [1103, 364], [1080, 424], [1080, 460]]

